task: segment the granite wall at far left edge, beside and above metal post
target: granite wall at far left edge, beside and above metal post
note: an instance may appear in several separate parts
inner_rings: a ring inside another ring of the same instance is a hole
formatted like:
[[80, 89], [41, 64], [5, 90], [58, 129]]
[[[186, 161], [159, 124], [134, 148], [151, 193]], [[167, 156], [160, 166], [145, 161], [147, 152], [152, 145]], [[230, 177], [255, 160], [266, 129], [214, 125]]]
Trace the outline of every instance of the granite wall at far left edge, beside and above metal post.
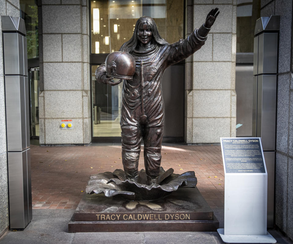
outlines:
[[[19, 17], [19, 0], [0, 0], [0, 16]], [[0, 18], [0, 33], [2, 24]], [[7, 147], [6, 147], [6, 116], [4, 97], [4, 71], [2, 35], [0, 38], [0, 236], [9, 225], [8, 212], [8, 179], [7, 179]]]

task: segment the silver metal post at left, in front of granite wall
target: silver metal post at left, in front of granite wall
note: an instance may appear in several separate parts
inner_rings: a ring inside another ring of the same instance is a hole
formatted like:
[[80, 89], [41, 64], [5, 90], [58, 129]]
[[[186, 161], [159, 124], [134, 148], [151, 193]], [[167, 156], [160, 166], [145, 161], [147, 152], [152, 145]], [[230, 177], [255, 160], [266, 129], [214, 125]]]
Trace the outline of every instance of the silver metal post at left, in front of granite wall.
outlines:
[[24, 20], [1, 16], [10, 229], [32, 219], [27, 38]]

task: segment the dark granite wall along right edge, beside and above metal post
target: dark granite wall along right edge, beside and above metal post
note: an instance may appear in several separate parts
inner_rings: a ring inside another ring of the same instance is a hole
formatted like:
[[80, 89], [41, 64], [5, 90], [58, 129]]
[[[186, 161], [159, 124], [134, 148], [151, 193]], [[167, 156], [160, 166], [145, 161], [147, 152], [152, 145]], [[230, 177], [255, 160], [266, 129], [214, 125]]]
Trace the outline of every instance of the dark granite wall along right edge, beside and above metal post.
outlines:
[[[275, 222], [293, 239], [292, 0], [262, 0], [261, 16], [280, 15]], [[292, 99], [292, 100], [291, 100]]]

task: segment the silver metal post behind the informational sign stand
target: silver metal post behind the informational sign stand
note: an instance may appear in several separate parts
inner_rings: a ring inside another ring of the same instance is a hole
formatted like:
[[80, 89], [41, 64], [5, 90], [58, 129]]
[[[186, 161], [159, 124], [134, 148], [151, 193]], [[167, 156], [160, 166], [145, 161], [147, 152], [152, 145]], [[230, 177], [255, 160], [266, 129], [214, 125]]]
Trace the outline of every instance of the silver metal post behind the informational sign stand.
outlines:
[[280, 16], [256, 21], [253, 60], [252, 136], [261, 137], [268, 172], [267, 227], [274, 224], [277, 61]]

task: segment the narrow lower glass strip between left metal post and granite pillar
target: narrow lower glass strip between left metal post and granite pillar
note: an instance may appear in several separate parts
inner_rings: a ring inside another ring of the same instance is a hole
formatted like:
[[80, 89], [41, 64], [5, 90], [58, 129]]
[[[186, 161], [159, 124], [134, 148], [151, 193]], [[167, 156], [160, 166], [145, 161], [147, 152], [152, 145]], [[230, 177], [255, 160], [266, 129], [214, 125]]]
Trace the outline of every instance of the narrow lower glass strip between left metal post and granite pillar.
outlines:
[[30, 68], [29, 71], [30, 79], [30, 124], [31, 124], [31, 137], [39, 136], [39, 105], [38, 105], [38, 95], [40, 92], [38, 81], [39, 81], [39, 68]]

